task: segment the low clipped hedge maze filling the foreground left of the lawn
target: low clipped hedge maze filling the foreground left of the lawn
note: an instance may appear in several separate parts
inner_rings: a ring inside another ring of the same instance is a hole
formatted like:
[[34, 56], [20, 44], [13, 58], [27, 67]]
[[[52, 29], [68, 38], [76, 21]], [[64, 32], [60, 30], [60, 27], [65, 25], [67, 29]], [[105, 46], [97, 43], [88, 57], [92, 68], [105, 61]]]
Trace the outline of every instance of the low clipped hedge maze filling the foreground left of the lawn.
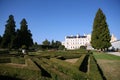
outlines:
[[[105, 79], [94, 56], [89, 52], [57, 51], [42, 54], [0, 56], [0, 80]], [[75, 58], [75, 63], [65, 61]]]

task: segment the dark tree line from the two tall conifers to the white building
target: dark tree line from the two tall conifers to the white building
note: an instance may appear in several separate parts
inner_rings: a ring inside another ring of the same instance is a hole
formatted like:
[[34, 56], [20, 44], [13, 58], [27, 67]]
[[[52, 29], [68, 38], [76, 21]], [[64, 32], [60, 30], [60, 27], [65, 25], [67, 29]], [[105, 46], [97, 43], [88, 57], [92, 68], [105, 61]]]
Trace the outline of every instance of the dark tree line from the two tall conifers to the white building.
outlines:
[[0, 36], [0, 48], [19, 49], [19, 48], [41, 48], [41, 49], [64, 49], [60, 41], [52, 42], [47, 39], [42, 42], [42, 45], [33, 43], [32, 33], [28, 29], [27, 21], [25, 18], [20, 22], [20, 29], [15, 29], [14, 16], [10, 15], [6, 21], [5, 31], [3, 36]]

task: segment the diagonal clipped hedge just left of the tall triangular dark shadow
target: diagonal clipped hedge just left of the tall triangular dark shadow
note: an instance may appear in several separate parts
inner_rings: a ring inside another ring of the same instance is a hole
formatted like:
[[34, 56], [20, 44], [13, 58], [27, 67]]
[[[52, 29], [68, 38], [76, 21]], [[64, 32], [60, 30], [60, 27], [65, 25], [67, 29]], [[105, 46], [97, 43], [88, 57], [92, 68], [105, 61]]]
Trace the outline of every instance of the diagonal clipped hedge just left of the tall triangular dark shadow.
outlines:
[[80, 72], [76, 67], [72, 66], [70, 63], [64, 62], [59, 59], [50, 59], [58, 68], [59, 71], [72, 76], [75, 80], [86, 80], [87, 76], [85, 73]]

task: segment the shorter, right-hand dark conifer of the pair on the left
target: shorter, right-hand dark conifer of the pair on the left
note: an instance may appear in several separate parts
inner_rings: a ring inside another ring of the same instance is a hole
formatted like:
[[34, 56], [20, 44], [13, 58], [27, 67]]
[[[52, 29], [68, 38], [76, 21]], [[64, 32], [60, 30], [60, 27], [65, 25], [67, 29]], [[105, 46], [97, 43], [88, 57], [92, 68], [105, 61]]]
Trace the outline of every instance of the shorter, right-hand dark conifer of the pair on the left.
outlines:
[[19, 39], [19, 47], [25, 45], [27, 48], [31, 47], [33, 45], [33, 39], [31, 31], [28, 30], [27, 21], [25, 19], [22, 19], [21, 21], [21, 27], [20, 30], [18, 30], [18, 36]]

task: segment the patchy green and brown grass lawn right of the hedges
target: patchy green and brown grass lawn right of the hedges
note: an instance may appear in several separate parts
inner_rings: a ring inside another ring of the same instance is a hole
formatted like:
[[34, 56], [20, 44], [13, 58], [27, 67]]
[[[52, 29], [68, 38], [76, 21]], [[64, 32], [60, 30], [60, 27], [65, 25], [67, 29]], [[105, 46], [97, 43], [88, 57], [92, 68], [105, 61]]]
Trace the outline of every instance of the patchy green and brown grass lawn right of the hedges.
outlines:
[[120, 56], [106, 53], [93, 53], [107, 80], [120, 79]]

